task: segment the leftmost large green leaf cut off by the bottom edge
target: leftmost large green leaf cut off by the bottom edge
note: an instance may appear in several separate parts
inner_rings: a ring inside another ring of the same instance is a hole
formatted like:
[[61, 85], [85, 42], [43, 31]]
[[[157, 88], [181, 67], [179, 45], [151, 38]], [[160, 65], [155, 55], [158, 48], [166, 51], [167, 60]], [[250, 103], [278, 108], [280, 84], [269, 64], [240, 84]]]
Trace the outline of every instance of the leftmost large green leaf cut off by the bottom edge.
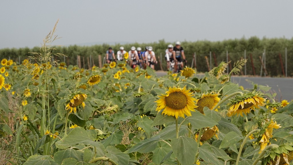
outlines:
[[33, 155], [23, 165], [57, 165], [50, 155]]

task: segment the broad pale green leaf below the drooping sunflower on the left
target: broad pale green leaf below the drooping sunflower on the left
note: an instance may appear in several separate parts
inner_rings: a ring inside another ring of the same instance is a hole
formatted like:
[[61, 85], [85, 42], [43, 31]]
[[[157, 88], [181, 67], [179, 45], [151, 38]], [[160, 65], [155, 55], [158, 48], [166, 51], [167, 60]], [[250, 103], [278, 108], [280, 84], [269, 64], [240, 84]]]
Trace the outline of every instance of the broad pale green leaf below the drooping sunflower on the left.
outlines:
[[80, 144], [81, 142], [85, 140], [92, 141], [91, 138], [86, 133], [86, 130], [84, 130], [81, 127], [76, 127], [72, 129], [71, 132], [66, 137], [56, 142], [56, 147], [60, 149], [66, 149], [76, 144]]

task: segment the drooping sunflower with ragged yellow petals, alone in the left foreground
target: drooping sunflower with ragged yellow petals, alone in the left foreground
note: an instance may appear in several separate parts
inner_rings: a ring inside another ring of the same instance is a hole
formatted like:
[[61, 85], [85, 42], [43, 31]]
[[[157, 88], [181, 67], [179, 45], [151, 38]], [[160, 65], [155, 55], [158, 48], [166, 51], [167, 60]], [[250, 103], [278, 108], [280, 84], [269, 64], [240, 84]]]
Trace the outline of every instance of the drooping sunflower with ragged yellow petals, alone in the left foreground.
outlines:
[[82, 107], [84, 108], [85, 104], [84, 104], [84, 100], [86, 99], [87, 95], [86, 94], [76, 94], [73, 97], [71, 97], [71, 99], [69, 99], [69, 102], [67, 103], [65, 110], [70, 110], [69, 113], [72, 112], [72, 110], [74, 111], [74, 113], [76, 113], [76, 107], [78, 107], [79, 105], [82, 105]]

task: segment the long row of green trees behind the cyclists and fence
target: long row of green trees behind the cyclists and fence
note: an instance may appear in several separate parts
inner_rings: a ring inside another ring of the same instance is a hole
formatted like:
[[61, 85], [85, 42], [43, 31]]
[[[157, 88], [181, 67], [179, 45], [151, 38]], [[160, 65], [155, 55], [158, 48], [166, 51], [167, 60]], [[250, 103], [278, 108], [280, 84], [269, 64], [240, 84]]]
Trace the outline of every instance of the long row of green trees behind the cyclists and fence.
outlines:
[[[164, 40], [159, 40], [153, 43], [130, 43], [130, 44], [103, 44], [103, 45], [93, 45], [93, 46], [54, 46], [56, 50], [53, 53], [61, 53], [66, 55], [66, 57], [56, 56], [54, 60], [59, 60], [60, 62], [65, 62], [67, 65], [77, 64], [77, 55], [81, 56], [81, 64], [84, 68], [89, 68], [88, 59], [92, 58], [92, 64], [98, 66], [99, 58], [101, 55], [101, 60], [105, 57], [105, 52], [108, 47], [112, 47], [115, 53], [119, 50], [120, 46], [124, 46], [126, 51], [130, 50], [131, 46], [141, 47], [144, 50], [145, 46], [152, 46], [156, 57], [162, 58], [161, 64], [163, 70], [167, 70], [165, 61], [165, 50], [168, 44], [174, 44], [175, 42], [166, 42]], [[183, 41], [181, 46], [184, 48], [186, 59], [188, 60], [187, 65], [189, 67], [195, 67], [198, 72], [206, 72], [209, 70], [207, 61], [211, 67], [217, 66], [221, 61], [227, 60], [227, 52], [229, 54], [229, 60], [231, 60], [231, 68], [233, 68], [234, 62], [244, 58], [244, 51], [246, 51], [246, 58], [248, 59], [246, 64], [246, 74], [247, 75], [260, 75], [261, 71], [261, 60], [260, 56], [263, 56], [265, 51], [265, 66], [268, 76], [283, 76], [282, 65], [285, 70], [285, 48], [287, 48], [287, 63], [293, 61], [293, 38], [258, 38], [256, 36], [240, 39], [229, 39], [224, 41]], [[28, 58], [32, 54], [29, 52], [40, 52], [39, 47], [34, 48], [4, 48], [0, 49], [0, 57], [12, 59], [19, 63], [25, 58]], [[212, 54], [212, 59], [210, 63], [210, 52]], [[196, 54], [196, 63], [193, 62], [194, 54]], [[281, 58], [280, 58], [280, 55]], [[206, 59], [207, 58], [207, 59]], [[253, 65], [252, 65], [253, 64]], [[290, 64], [290, 63], [289, 63]], [[254, 66], [254, 70], [253, 70]], [[287, 75], [293, 76], [292, 65], [287, 65]], [[229, 70], [231, 70], [229, 67]], [[160, 70], [160, 65], [156, 65], [156, 70]], [[264, 71], [262, 71], [264, 73]], [[244, 74], [244, 68], [243, 68]]]

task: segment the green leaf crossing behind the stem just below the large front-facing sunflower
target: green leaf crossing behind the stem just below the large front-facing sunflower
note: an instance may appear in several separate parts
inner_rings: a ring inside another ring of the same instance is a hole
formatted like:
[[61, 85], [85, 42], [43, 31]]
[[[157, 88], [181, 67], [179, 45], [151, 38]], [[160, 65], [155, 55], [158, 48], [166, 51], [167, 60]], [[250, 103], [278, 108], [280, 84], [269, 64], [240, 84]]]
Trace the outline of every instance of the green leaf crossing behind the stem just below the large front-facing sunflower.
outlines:
[[[179, 128], [179, 136], [184, 136], [187, 132], [187, 127], [185, 125], [181, 125]], [[171, 140], [176, 138], [176, 125], [168, 125], [162, 131], [156, 134], [156, 136], [160, 136], [163, 140]]]

